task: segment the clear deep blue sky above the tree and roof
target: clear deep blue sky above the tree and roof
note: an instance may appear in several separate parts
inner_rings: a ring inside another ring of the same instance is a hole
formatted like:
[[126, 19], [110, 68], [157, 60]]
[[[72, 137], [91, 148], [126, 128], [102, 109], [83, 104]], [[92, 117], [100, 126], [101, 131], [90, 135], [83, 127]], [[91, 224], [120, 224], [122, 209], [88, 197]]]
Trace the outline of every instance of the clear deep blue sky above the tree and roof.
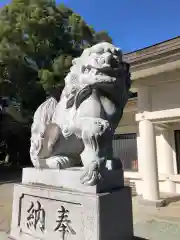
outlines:
[[[38, 1], [38, 0], [37, 0]], [[0, 5], [7, 0], [0, 0]], [[124, 51], [180, 35], [180, 0], [57, 0], [96, 30], [106, 30]]]

